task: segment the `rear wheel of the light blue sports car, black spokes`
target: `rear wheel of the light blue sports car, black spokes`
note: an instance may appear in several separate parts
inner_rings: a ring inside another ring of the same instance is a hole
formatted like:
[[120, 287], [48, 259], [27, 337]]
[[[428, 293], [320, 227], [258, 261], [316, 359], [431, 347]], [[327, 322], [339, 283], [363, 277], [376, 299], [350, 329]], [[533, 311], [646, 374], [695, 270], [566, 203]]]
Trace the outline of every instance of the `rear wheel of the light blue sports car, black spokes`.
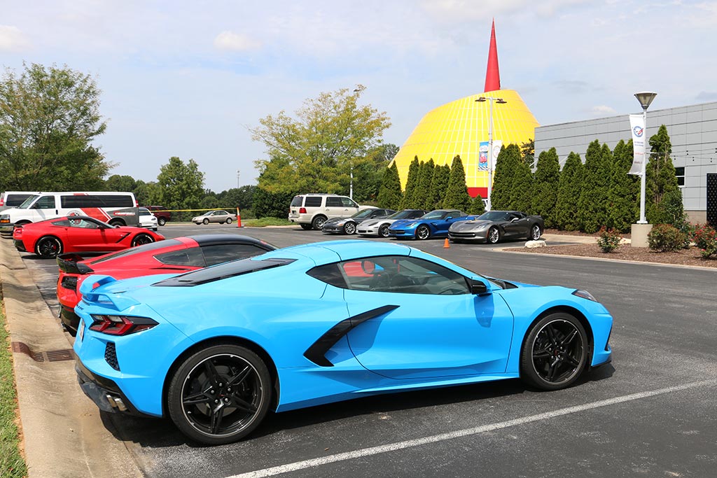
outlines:
[[267, 365], [239, 345], [194, 353], [169, 383], [167, 408], [177, 428], [203, 444], [238, 441], [264, 419], [272, 387]]

